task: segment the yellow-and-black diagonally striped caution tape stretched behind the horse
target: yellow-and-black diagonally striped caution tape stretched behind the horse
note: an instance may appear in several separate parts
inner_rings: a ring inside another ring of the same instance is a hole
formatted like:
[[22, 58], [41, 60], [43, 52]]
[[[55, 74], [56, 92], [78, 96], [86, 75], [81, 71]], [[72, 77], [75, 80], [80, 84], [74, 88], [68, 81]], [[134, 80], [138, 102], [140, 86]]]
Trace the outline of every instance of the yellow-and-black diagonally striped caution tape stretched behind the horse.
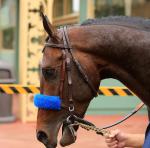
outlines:
[[[34, 85], [20, 84], [0, 84], [0, 93], [5, 94], [37, 94], [40, 93], [40, 87]], [[134, 96], [126, 87], [99, 87], [100, 95], [104, 96]]]

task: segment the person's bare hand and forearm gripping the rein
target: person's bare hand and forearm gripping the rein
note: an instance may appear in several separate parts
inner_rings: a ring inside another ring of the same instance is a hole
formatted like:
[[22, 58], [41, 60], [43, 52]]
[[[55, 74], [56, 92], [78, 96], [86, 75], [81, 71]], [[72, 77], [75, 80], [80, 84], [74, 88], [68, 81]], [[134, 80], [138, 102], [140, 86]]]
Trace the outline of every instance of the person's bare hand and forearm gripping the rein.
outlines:
[[113, 130], [109, 135], [105, 136], [105, 141], [109, 148], [142, 148], [144, 137], [144, 134], [128, 134]]

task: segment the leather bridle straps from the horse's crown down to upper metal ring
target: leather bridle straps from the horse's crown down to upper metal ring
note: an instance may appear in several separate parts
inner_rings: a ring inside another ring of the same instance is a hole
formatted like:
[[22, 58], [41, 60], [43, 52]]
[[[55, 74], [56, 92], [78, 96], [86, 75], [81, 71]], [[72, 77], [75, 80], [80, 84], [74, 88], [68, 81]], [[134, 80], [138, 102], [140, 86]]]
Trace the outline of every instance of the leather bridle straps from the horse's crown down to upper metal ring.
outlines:
[[91, 83], [89, 77], [87, 76], [86, 72], [82, 68], [79, 61], [73, 55], [73, 48], [70, 44], [68, 33], [67, 33], [67, 26], [62, 28], [63, 34], [63, 44], [55, 44], [46, 42], [44, 49], [46, 47], [51, 48], [59, 48], [62, 51], [63, 60], [61, 66], [61, 76], [60, 76], [60, 86], [59, 86], [59, 95], [61, 99], [64, 97], [64, 82], [65, 82], [65, 75], [67, 75], [67, 83], [68, 83], [68, 100], [69, 106], [67, 107], [65, 104], [62, 103], [63, 108], [68, 108], [69, 112], [74, 112], [74, 102], [73, 102], [73, 91], [72, 91], [72, 76], [71, 76], [71, 69], [72, 69], [72, 62], [77, 67], [81, 77], [84, 79], [85, 83], [89, 86], [94, 96], [97, 95], [98, 91], [95, 89], [93, 84]]

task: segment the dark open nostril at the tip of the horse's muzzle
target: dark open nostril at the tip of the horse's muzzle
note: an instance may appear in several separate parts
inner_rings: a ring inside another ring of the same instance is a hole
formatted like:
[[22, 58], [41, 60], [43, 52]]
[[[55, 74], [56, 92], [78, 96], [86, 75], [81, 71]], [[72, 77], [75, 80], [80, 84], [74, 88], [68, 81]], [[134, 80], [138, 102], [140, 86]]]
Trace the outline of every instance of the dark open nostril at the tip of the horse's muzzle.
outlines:
[[37, 132], [37, 139], [39, 141], [41, 141], [43, 144], [47, 144], [48, 143], [48, 136], [45, 132], [43, 131], [38, 131]]

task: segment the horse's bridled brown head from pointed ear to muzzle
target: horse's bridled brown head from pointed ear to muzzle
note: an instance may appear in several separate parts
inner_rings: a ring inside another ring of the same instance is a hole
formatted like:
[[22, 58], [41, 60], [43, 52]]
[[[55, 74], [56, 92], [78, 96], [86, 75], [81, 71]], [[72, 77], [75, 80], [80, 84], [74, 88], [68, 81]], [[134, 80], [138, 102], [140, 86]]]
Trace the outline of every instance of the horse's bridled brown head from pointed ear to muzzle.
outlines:
[[[52, 102], [52, 96], [60, 98], [60, 106], [59, 109], [39, 107], [36, 130], [39, 141], [48, 148], [55, 148], [59, 129], [68, 116], [84, 117], [99, 88], [100, 77], [92, 55], [80, 48], [83, 46], [78, 42], [80, 27], [55, 30], [46, 16], [42, 14], [42, 18], [48, 38], [41, 62], [41, 94], [43, 99], [49, 96]], [[39, 99], [42, 101], [42, 97]], [[73, 128], [73, 131], [78, 129]], [[60, 144], [70, 145], [75, 140], [72, 130], [63, 124]]]

